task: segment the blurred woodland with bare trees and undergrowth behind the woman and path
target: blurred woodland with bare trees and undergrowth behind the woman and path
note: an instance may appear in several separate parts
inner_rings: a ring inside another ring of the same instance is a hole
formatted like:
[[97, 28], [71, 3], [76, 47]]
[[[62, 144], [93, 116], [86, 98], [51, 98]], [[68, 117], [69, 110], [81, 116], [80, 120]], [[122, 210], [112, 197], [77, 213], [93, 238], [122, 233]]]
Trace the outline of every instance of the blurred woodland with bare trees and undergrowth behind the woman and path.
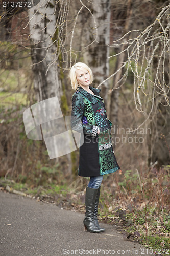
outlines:
[[79, 150], [50, 159], [44, 140], [27, 138], [22, 115], [57, 96], [69, 116], [68, 73], [85, 62], [107, 102], [122, 168], [104, 177], [100, 219], [169, 252], [169, 1], [8, 3], [0, 8], [1, 189], [84, 211], [88, 179], [77, 176]]

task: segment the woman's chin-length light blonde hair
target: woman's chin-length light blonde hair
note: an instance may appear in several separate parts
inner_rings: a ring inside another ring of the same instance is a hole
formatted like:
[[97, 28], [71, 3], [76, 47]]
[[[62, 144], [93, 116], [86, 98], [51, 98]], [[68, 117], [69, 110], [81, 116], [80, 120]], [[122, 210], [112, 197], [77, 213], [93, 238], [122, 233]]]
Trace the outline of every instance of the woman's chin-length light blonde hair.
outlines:
[[77, 62], [75, 65], [73, 65], [70, 69], [69, 72], [69, 79], [71, 80], [71, 87], [74, 90], [78, 89], [78, 81], [76, 79], [76, 70], [80, 69], [80, 70], [87, 70], [90, 74], [90, 84], [93, 81], [93, 73], [91, 71], [91, 69], [83, 62]]

